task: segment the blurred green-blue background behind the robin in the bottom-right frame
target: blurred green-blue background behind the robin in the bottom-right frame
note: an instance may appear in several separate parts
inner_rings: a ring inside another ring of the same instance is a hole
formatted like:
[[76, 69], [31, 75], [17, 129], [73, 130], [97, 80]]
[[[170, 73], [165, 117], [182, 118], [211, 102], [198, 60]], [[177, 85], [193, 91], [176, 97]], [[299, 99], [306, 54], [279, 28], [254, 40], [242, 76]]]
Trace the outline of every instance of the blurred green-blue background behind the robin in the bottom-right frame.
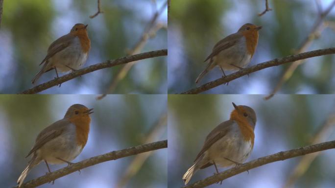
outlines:
[[[335, 95], [169, 95], [168, 96], [168, 187], [183, 186], [182, 177], [192, 165], [210, 131], [229, 119], [237, 105], [252, 107], [257, 114], [255, 145], [246, 162], [280, 151], [310, 145], [323, 130], [322, 141], [335, 140]], [[325, 121], [332, 115], [332, 122]], [[326, 150], [307, 166], [294, 188], [334, 188], [335, 150]], [[302, 157], [266, 164], [243, 172], [209, 188], [284, 188]], [[306, 167], [306, 166], [304, 166]], [[228, 168], [219, 168], [222, 172]], [[190, 183], [212, 176], [214, 166], [199, 170]]]

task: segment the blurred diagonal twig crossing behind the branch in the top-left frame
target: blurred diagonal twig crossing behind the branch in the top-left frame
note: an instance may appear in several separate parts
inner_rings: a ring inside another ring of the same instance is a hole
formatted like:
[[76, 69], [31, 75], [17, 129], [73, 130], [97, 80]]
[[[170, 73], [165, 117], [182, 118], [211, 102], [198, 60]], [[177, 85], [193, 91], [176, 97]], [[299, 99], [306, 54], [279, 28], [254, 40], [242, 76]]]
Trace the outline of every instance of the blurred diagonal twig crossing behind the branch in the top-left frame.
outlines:
[[[168, 5], [168, 0], [162, 5], [162, 7], [156, 11], [156, 13], [153, 15], [152, 19], [150, 20], [149, 24], [144, 28], [144, 32], [140, 38], [140, 40], [135, 44], [135, 46], [128, 50], [128, 54], [132, 55], [135, 53], [140, 53], [143, 47], [145, 46], [147, 40], [149, 38], [152, 38], [156, 35], [156, 32], [160, 30], [164, 25], [163, 24], [155, 24], [159, 15], [161, 15]], [[112, 80], [111, 84], [109, 85], [106, 92], [98, 97], [96, 99], [102, 99], [106, 94], [113, 93], [115, 88], [117, 87], [118, 83], [127, 75], [127, 73], [130, 71], [130, 69], [135, 65], [136, 62], [132, 62], [130, 64], [127, 64], [123, 66], [117, 73], [116, 76], [114, 76], [114, 79]]]

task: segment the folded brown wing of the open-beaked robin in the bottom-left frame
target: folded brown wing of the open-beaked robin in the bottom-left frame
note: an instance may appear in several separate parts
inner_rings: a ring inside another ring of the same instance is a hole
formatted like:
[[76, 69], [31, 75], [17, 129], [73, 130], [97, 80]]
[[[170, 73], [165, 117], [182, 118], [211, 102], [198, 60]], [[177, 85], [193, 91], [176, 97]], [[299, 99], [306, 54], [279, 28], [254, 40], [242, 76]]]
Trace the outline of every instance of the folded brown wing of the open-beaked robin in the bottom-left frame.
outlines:
[[50, 126], [43, 129], [40, 134], [38, 134], [34, 147], [30, 150], [27, 156], [34, 153], [36, 150], [41, 148], [45, 143], [48, 141], [51, 141], [52, 139], [58, 137], [61, 135], [64, 131], [66, 131], [69, 128], [69, 124], [71, 122], [68, 119], [61, 119], [59, 121], [56, 121], [52, 123]]

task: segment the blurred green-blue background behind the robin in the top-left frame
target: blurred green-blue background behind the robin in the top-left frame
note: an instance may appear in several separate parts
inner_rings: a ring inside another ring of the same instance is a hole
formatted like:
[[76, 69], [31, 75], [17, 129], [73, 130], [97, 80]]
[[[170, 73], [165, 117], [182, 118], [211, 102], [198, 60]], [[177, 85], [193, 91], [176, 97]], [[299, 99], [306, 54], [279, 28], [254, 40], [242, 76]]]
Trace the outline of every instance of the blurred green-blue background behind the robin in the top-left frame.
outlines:
[[[76, 23], [88, 24], [91, 50], [83, 67], [127, 55], [140, 41], [145, 27], [160, 12], [156, 24], [137, 53], [167, 48], [166, 0], [5, 0], [0, 29], [0, 93], [18, 93], [31, 88], [49, 45], [70, 32]], [[162, 8], [163, 7], [163, 8]], [[135, 64], [108, 93], [166, 94], [167, 58], [145, 59]], [[122, 66], [103, 69], [74, 78], [44, 94], [101, 94], [111, 86]], [[60, 73], [60, 76], [64, 73]], [[45, 73], [37, 84], [55, 77]]]

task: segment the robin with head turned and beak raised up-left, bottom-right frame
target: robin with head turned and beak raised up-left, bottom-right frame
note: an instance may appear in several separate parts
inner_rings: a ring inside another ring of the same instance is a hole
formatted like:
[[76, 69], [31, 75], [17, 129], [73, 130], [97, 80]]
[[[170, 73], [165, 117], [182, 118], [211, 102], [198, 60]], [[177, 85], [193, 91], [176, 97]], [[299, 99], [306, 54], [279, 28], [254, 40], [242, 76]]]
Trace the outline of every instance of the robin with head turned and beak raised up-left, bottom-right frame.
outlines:
[[254, 129], [256, 113], [248, 106], [236, 106], [230, 114], [230, 119], [217, 125], [206, 137], [201, 151], [196, 156], [193, 165], [183, 176], [185, 185], [199, 169], [217, 165], [228, 167], [243, 163], [254, 147]]

